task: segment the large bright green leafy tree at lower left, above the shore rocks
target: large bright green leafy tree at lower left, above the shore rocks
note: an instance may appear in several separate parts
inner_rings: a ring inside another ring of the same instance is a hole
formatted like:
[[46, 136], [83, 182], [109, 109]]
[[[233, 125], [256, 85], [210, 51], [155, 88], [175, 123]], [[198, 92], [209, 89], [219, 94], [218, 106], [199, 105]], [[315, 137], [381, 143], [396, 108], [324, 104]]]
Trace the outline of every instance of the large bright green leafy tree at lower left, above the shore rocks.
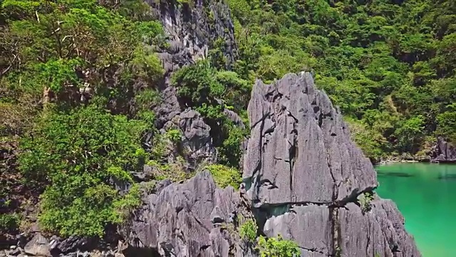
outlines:
[[[21, 141], [21, 172], [42, 196], [41, 225], [62, 236], [102, 236], [105, 226], [123, 221], [140, 203], [129, 171], [144, 163], [142, 121], [113, 116], [95, 106], [68, 114], [44, 113], [31, 136]], [[100, 129], [103, 128], [103, 129]]]

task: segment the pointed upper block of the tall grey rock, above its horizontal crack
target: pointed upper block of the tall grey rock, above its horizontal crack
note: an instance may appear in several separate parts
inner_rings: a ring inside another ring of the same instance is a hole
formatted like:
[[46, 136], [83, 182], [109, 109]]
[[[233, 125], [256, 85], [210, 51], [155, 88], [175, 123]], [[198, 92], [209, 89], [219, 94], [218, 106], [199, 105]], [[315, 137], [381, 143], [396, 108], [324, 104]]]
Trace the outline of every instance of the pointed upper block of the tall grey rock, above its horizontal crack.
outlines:
[[259, 205], [346, 201], [377, 186], [373, 166], [310, 74], [257, 81], [248, 111], [244, 178]]

